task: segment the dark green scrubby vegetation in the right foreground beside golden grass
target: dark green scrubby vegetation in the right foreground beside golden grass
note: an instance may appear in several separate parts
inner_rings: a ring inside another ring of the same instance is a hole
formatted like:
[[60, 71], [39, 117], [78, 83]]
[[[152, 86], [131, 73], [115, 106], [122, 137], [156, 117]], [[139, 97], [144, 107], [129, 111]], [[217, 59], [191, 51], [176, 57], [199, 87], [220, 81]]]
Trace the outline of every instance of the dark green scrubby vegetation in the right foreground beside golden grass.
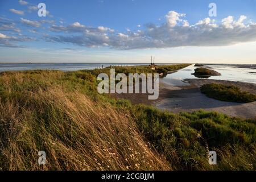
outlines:
[[[152, 106], [139, 105], [133, 110], [139, 129], [146, 139], [166, 155], [177, 170], [253, 170], [255, 120], [230, 118], [206, 112], [173, 114]], [[207, 152], [218, 154], [218, 165], [209, 166]], [[236, 159], [240, 156], [240, 159]]]

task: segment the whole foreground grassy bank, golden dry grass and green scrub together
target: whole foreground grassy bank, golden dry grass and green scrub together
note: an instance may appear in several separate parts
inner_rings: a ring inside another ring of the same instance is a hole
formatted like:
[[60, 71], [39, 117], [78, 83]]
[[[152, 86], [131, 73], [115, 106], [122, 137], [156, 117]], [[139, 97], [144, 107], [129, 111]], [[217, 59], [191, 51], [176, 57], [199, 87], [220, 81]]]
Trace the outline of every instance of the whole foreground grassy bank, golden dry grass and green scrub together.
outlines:
[[0, 169], [255, 169], [255, 120], [114, 100], [97, 93], [98, 72], [0, 73]]

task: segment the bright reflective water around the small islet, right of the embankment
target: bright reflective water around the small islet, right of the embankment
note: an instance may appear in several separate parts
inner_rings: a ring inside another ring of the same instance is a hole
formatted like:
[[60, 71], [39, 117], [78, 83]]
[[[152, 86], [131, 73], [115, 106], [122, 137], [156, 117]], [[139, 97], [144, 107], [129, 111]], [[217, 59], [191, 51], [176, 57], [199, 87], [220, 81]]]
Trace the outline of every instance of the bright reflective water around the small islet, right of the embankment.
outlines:
[[[243, 81], [256, 84], [256, 65], [207, 65], [206, 68], [213, 69], [221, 73], [221, 76], [211, 76], [209, 78], [201, 79], [213, 79], [213, 80], [229, 80], [229, 81]], [[174, 86], [188, 85], [182, 80], [185, 78], [198, 78], [192, 73], [195, 73], [195, 65], [190, 65], [187, 68], [180, 69], [176, 73], [172, 73], [164, 77], [162, 80], [167, 84]]]

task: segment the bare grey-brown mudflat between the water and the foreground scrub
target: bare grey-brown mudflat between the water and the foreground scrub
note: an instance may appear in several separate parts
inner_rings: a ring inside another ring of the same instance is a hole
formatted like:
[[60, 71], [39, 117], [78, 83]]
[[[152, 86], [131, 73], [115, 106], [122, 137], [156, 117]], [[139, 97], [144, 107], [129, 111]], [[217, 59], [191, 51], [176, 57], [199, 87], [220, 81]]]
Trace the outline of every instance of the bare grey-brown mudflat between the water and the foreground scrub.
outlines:
[[192, 112], [199, 109], [217, 111], [232, 117], [256, 118], [256, 102], [236, 103], [214, 100], [201, 93], [200, 86], [208, 83], [236, 85], [241, 90], [256, 94], [256, 84], [237, 81], [222, 81], [208, 79], [187, 79], [189, 86], [171, 86], [160, 79], [159, 98], [150, 101], [147, 94], [113, 94], [115, 98], [125, 98], [133, 104], [154, 105], [158, 109], [180, 113], [180, 111]]

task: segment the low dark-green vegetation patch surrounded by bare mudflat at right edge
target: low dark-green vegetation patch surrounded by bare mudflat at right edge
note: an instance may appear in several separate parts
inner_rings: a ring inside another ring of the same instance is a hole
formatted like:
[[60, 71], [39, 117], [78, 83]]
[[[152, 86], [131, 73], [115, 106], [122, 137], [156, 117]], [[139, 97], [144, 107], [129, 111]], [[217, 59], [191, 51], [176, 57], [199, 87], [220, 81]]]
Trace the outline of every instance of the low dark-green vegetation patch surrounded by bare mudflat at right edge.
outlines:
[[248, 92], [242, 92], [237, 86], [222, 84], [206, 84], [201, 86], [201, 92], [210, 98], [229, 102], [254, 102], [256, 96]]

